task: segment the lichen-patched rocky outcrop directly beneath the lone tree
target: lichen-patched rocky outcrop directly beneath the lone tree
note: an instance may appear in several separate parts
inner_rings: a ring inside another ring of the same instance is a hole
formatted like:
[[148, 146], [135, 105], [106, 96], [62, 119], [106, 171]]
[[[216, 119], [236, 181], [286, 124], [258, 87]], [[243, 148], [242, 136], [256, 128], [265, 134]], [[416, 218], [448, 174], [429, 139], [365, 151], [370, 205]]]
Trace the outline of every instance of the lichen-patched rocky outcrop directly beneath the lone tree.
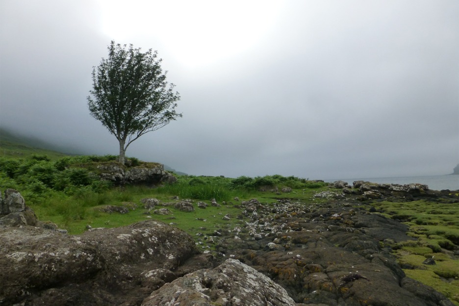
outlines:
[[115, 184], [159, 184], [174, 183], [177, 178], [164, 171], [164, 166], [150, 163], [137, 167], [127, 167], [116, 161], [102, 162], [96, 165], [97, 174], [101, 179]]

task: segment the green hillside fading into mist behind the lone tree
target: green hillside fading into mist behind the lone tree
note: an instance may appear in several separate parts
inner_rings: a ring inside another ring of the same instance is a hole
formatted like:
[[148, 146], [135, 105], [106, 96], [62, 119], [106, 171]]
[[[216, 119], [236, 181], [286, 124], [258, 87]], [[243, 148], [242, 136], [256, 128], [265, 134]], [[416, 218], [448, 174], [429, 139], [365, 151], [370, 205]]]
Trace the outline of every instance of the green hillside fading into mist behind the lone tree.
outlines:
[[[21, 158], [32, 156], [33, 154], [48, 155], [50, 158], [60, 158], [66, 155], [84, 155], [87, 153], [78, 148], [55, 145], [34, 136], [0, 128], [0, 156]], [[186, 175], [186, 173], [176, 171], [167, 165], [164, 165], [164, 170], [174, 172], [178, 175]]]

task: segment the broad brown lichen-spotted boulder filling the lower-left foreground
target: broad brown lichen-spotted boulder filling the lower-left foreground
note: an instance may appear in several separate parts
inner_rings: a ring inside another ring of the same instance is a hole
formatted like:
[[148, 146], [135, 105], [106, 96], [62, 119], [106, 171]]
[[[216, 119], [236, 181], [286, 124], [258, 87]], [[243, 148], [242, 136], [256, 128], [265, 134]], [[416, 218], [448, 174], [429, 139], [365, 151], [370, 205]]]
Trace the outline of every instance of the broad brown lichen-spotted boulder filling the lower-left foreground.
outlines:
[[197, 253], [188, 234], [153, 220], [77, 236], [0, 226], [0, 241], [1, 305], [139, 305], [157, 288], [142, 273]]

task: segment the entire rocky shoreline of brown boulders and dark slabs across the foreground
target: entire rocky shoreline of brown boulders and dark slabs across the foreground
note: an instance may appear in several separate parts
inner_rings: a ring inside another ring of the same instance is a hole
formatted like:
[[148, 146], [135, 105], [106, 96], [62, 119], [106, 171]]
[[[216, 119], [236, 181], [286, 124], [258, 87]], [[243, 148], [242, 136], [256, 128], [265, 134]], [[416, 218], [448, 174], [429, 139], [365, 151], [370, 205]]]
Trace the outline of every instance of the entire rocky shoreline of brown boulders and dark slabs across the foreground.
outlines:
[[415, 238], [369, 204], [459, 202], [425, 185], [338, 181], [317, 203], [235, 201], [245, 226], [204, 231], [216, 250], [204, 253], [189, 234], [153, 220], [82, 235], [40, 227], [25, 205], [27, 220], [8, 217], [21, 214], [13, 194], [21, 202], [6, 191], [1, 219], [25, 223], [0, 222], [1, 305], [454, 305], [406, 277], [391, 251]]

